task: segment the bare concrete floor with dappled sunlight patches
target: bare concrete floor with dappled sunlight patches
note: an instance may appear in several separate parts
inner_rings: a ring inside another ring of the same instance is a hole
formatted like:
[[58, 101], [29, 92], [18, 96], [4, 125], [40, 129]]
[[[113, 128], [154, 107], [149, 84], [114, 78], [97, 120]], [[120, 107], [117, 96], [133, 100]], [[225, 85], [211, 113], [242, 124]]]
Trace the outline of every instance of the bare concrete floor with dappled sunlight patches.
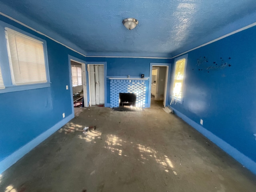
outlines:
[[[255, 192], [256, 176], [161, 102], [91, 107], [0, 176], [0, 192]], [[75, 129], [95, 125], [87, 135]]]

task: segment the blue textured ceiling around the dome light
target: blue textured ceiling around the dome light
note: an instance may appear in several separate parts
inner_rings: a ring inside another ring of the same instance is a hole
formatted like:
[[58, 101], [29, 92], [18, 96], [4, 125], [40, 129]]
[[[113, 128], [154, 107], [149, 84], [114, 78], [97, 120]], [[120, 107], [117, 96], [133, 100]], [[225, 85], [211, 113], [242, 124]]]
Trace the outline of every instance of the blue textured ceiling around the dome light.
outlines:
[[0, 0], [0, 12], [87, 56], [172, 57], [256, 22], [256, 1]]

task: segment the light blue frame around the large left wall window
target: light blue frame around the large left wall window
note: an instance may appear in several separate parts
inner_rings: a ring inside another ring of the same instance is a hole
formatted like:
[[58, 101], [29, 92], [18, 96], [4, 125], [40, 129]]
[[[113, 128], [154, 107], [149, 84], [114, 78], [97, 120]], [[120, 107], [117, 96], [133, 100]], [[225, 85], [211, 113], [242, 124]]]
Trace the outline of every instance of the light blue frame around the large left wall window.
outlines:
[[[34, 38], [43, 42], [43, 50], [44, 50], [44, 63], [45, 63], [45, 70], [46, 70], [46, 80], [47, 82], [44, 83], [36, 83], [36, 84], [25, 84], [25, 85], [14, 85], [12, 83], [12, 73], [10, 70], [10, 61], [8, 56], [8, 47], [7, 47], [7, 40], [5, 36], [5, 28], [10, 28], [15, 30], [19, 33], [22, 33], [30, 38]], [[38, 89], [38, 88], [46, 88], [50, 87], [50, 74], [49, 74], [49, 66], [48, 66], [48, 54], [47, 54], [47, 43], [46, 40], [41, 39], [37, 36], [34, 36], [28, 32], [25, 32], [19, 28], [16, 28], [10, 24], [0, 21], [0, 68], [2, 71], [2, 78], [4, 82], [4, 89], [0, 89], [1, 93], [6, 92], [16, 92], [16, 91], [23, 91], [23, 90], [31, 90], [31, 89]]]

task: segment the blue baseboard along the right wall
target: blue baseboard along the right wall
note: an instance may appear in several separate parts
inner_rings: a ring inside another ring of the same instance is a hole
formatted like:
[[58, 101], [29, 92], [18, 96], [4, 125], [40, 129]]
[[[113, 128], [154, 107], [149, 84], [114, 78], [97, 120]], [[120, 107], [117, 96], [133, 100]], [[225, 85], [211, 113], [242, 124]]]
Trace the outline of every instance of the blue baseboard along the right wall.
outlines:
[[[172, 108], [170, 105], [168, 105], [170, 108]], [[256, 174], [256, 162], [254, 162], [249, 157], [242, 154], [240, 151], [238, 151], [236, 148], [232, 147], [230, 144], [222, 140], [221, 138], [214, 135], [212, 132], [206, 130], [181, 112], [177, 111], [176, 109], [172, 108], [174, 111], [174, 114], [182, 118], [186, 123], [188, 123], [190, 126], [195, 128], [198, 132], [203, 134], [205, 137], [210, 139], [214, 144], [216, 144], [218, 147], [220, 147], [222, 150], [224, 150], [227, 154], [232, 156], [235, 160], [237, 160], [240, 164], [242, 164], [244, 167], [246, 167], [248, 170]]]

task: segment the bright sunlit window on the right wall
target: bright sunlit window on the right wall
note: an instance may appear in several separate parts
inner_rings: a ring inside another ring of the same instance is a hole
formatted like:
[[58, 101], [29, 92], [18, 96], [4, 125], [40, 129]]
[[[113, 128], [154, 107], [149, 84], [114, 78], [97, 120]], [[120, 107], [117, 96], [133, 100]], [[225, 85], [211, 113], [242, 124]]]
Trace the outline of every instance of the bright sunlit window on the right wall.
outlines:
[[186, 58], [176, 60], [172, 96], [182, 100]]

